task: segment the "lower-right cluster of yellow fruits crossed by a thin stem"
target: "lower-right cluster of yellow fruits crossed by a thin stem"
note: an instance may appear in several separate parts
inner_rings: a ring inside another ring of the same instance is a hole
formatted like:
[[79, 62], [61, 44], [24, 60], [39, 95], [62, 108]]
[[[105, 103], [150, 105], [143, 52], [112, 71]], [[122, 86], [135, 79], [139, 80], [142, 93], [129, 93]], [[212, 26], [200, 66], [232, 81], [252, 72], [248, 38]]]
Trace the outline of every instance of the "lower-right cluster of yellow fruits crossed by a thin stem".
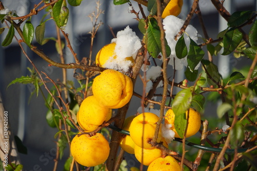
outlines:
[[[188, 118], [188, 112], [186, 113]], [[164, 118], [164, 124], [174, 125], [175, 114], [173, 110], [168, 110]], [[130, 136], [121, 138], [120, 146], [125, 152], [135, 154], [136, 159], [143, 165], [149, 166], [149, 170], [180, 170], [180, 165], [171, 156], [162, 158], [160, 149], [153, 147], [149, 141], [153, 139], [156, 122], [159, 117], [153, 113], [142, 113], [137, 116], [130, 116], [125, 119], [123, 130], [129, 131]], [[200, 114], [194, 109], [190, 109], [186, 137], [196, 134], [200, 129]], [[174, 126], [170, 127], [175, 132], [175, 137], [180, 138]], [[168, 143], [162, 137], [161, 129], [157, 142], [168, 148]]]

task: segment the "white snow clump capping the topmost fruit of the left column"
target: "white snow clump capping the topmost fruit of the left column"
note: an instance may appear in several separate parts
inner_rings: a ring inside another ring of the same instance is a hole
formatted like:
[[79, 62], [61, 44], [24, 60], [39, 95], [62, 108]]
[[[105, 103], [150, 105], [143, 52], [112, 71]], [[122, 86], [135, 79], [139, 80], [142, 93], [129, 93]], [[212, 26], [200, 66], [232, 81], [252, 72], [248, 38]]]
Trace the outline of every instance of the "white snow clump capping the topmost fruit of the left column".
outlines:
[[117, 38], [112, 39], [115, 42], [115, 56], [106, 61], [105, 67], [117, 71], [127, 72], [133, 66], [131, 60], [126, 60], [127, 57], [136, 58], [137, 51], [141, 48], [141, 41], [132, 29], [127, 26], [124, 30], [117, 33]]

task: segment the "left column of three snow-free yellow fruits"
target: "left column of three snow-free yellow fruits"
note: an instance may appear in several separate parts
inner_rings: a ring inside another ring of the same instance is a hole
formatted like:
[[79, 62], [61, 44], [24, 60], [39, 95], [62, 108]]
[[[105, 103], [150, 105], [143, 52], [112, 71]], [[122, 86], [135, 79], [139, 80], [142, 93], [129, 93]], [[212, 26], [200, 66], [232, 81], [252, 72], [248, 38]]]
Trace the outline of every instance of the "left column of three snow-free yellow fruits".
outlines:
[[[132, 80], [115, 70], [104, 70], [94, 79], [92, 88], [93, 96], [83, 100], [77, 113], [77, 121], [85, 132], [92, 132], [111, 119], [112, 109], [124, 106], [133, 94]], [[108, 141], [100, 133], [78, 134], [70, 145], [72, 157], [87, 167], [105, 162], [109, 150]]]

